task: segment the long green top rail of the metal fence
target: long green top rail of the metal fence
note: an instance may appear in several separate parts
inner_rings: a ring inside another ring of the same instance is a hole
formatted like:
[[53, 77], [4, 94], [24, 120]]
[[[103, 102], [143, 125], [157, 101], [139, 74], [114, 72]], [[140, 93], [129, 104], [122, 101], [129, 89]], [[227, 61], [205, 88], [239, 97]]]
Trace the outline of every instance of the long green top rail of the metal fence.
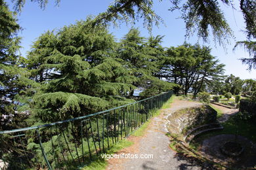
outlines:
[[[169, 91], [171, 92], [171, 91]], [[165, 93], [168, 93], [168, 92], [165, 92]], [[133, 103], [128, 103], [126, 105], [121, 105], [119, 107], [115, 107], [115, 108], [112, 108], [112, 109], [108, 109], [108, 110], [103, 110], [103, 111], [100, 111], [100, 112], [95, 112], [93, 114], [87, 114], [85, 116], [79, 116], [77, 118], [70, 118], [68, 120], [63, 120], [63, 121], [58, 121], [58, 122], [53, 122], [51, 124], [43, 124], [43, 125], [40, 125], [40, 126], [31, 126], [31, 127], [24, 127], [24, 128], [20, 128], [20, 129], [11, 129], [11, 130], [5, 130], [5, 131], [0, 131], [0, 134], [3, 134], [3, 133], [15, 133], [15, 132], [20, 132], [20, 131], [27, 131], [27, 130], [31, 130], [31, 129], [39, 129], [41, 127], [49, 127], [49, 126], [54, 126], [54, 125], [58, 125], [58, 124], [64, 124], [66, 122], [71, 122], [71, 121], [74, 121], [74, 120], [81, 120], [81, 119], [85, 119], [85, 118], [89, 118], [91, 116], [96, 116], [98, 114], [102, 114], [104, 112], [110, 112], [111, 110], [115, 110], [115, 109], [120, 109], [120, 108], [123, 108], [123, 107], [127, 107], [129, 105], [133, 105], [135, 103], [140, 103], [142, 101], [146, 101], [148, 99], [152, 99], [154, 97], [158, 97], [159, 95], [163, 95], [164, 93], [160, 93], [158, 95], [154, 95], [152, 97], [148, 97], [146, 99], [142, 99], [142, 100], [139, 100], [139, 101], [135, 101]]]

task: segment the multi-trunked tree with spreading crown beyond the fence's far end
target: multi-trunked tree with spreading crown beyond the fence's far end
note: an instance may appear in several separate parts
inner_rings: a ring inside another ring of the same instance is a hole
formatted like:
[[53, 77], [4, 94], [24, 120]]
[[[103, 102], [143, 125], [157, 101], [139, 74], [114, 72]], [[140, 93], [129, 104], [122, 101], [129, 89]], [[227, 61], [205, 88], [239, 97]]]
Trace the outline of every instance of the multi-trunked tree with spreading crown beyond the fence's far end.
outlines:
[[167, 49], [162, 76], [170, 82], [179, 84], [186, 95], [189, 91], [194, 97], [202, 91], [205, 84], [219, 80], [224, 72], [224, 65], [210, 54], [211, 49], [196, 44], [184, 44]]

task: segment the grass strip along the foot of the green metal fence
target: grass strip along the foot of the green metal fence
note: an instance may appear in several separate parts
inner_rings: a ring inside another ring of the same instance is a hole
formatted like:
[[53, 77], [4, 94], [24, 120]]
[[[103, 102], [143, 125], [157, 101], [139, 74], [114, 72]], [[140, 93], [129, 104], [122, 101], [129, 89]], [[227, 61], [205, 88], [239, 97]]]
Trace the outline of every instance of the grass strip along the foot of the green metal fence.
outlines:
[[[174, 98], [175, 98], [175, 95], [172, 95], [172, 97], [163, 104], [161, 109], [169, 108], [170, 104], [173, 102]], [[158, 116], [159, 114], [160, 114], [160, 109], [157, 110], [156, 112], [154, 112], [153, 117]], [[146, 133], [146, 128], [148, 127], [148, 125], [150, 124], [151, 121], [152, 121], [152, 119], [145, 122], [137, 130], [133, 131], [133, 133], [131, 133], [131, 135], [136, 136], [136, 137], [144, 135], [144, 133]], [[119, 141], [119, 143], [114, 144], [110, 148], [110, 150], [106, 151], [106, 154], [114, 154], [117, 151], [119, 151], [123, 148], [126, 148], [128, 146], [131, 146], [131, 145], [133, 145], [133, 142], [127, 141], [127, 139], [123, 139], [123, 140]], [[82, 170], [91, 170], [91, 169], [93, 169], [93, 170], [103, 170], [103, 169], [106, 169], [107, 165], [108, 165], [108, 162], [104, 158], [102, 158], [102, 156], [97, 156], [95, 158], [95, 160], [93, 160], [91, 163], [89, 163], [85, 167], [82, 167], [81, 169]]]

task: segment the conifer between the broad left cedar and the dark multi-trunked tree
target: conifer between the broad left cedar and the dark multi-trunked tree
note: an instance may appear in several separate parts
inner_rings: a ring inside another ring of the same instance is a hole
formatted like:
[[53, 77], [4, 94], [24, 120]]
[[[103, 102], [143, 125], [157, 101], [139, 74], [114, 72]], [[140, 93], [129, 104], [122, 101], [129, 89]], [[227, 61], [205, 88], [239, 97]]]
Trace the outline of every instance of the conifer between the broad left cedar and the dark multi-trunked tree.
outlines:
[[[160, 71], [158, 62], [163, 53], [160, 42], [161, 37], [159, 36], [156, 38], [150, 37], [146, 42], [144, 37], [140, 37], [139, 30], [133, 28], [123, 37], [117, 51], [120, 54], [119, 57], [126, 61], [124, 65], [127, 65], [127, 68], [137, 78], [133, 82], [133, 86], [146, 90], [140, 94], [144, 95], [144, 97], [149, 94], [154, 95], [171, 90], [175, 86], [172, 83], [160, 80], [158, 76]], [[133, 91], [131, 91], [130, 95], [133, 95]]]

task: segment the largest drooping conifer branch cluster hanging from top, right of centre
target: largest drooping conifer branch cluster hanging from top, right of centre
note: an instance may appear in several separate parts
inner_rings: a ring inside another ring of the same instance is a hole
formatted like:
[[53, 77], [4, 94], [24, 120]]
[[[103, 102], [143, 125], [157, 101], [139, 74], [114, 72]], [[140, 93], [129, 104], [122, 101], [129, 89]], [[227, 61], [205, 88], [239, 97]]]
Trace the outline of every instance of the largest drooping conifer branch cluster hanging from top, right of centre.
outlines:
[[[171, 10], [179, 9], [182, 12], [181, 18], [186, 24], [186, 36], [193, 35], [197, 32], [198, 37], [207, 41], [209, 30], [212, 31], [214, 41], [223, 44], [233, 37], [233, 33], [227, 24], [218, 1], [181, 1], [172, 0], [174, 7]], [[222, 1], [230, 5], [230, 1]], [[211, 27], [211, 29], [209, 29]]]

